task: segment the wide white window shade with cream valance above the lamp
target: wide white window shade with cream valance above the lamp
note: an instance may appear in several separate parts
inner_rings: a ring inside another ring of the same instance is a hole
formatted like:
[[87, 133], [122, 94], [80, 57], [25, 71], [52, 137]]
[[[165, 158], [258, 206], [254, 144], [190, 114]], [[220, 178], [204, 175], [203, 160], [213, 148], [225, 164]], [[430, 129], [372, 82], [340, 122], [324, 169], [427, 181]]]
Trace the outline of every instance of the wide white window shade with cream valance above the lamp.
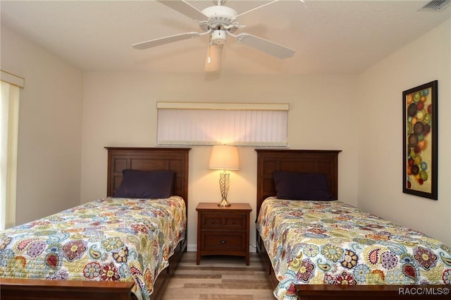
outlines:
[[159, 145], [287, 146], [288, 104], [158, 102]]

